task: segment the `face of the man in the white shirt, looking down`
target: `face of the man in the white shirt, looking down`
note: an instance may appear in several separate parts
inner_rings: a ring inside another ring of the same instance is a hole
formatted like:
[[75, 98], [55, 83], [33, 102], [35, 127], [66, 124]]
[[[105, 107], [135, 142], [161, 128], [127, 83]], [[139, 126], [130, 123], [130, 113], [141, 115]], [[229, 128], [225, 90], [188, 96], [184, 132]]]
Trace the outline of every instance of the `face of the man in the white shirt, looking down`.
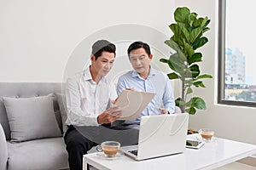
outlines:
[[106, 76], [113, 66], [113, 61], [114, 54], [103, 51], [97, 59], [94, 55], [91, 56], [91, 67], [96, 71], [97, 76]]

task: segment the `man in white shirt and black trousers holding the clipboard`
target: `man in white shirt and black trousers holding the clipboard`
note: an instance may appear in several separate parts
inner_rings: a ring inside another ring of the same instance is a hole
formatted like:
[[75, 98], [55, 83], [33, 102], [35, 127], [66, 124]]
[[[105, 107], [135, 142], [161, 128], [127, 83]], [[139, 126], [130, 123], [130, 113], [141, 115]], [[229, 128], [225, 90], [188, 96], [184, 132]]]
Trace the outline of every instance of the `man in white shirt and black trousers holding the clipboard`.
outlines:
[[[95, 42], [90, 55], [91, 65], [67, 80], [68, 129], [64, 139], [70, 170], [82, 170], [83, 155], [100, 143], [100, 139], [92, 136], [102, 137], [102, 140], [104, 135], [105, 139], [110, 138], [102, 125], [116, 121], [122, 113], [116, 106], [108, 108], [117, 98], [114, 86], [105, 77], [113, 66], [115, 49], [107, 40]], [[84, 132], [83, 127], [87, 127]]]

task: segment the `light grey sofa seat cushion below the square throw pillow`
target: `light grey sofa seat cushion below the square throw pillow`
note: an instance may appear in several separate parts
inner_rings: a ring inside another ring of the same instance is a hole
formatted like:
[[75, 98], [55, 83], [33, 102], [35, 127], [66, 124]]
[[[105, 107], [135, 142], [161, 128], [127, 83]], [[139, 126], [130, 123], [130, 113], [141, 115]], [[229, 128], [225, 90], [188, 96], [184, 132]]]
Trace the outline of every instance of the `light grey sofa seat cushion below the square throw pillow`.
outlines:
[[53, 170], [68, 167], [63, 138], [8, 142], [9, 170]]

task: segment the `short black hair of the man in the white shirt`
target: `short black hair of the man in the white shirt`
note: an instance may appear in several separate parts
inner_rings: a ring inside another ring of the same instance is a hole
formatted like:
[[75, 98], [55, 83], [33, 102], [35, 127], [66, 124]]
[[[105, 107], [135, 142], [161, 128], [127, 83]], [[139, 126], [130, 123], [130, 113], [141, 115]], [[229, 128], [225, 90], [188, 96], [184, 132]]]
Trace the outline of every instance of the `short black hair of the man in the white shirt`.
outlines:
[[102, 55], [102, 52], [113, 53], [115, 56], [115, 45], [107, 40], [98, 40], [94, 42], [91, 47], [91, 54], [95, 56], [95, 59]]

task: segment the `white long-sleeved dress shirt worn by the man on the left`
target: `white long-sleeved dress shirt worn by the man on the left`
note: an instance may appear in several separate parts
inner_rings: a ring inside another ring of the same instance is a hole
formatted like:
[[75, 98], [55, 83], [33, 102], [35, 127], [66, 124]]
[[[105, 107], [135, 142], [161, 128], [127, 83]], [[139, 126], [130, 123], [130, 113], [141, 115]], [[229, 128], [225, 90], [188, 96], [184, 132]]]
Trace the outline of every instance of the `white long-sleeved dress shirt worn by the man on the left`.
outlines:
[[102, 77], [96, 84], [90, 67], [67, 79], [67, 125], [99, 126], [97, 116], [106, 111], [117, 94], [113, 83]]

